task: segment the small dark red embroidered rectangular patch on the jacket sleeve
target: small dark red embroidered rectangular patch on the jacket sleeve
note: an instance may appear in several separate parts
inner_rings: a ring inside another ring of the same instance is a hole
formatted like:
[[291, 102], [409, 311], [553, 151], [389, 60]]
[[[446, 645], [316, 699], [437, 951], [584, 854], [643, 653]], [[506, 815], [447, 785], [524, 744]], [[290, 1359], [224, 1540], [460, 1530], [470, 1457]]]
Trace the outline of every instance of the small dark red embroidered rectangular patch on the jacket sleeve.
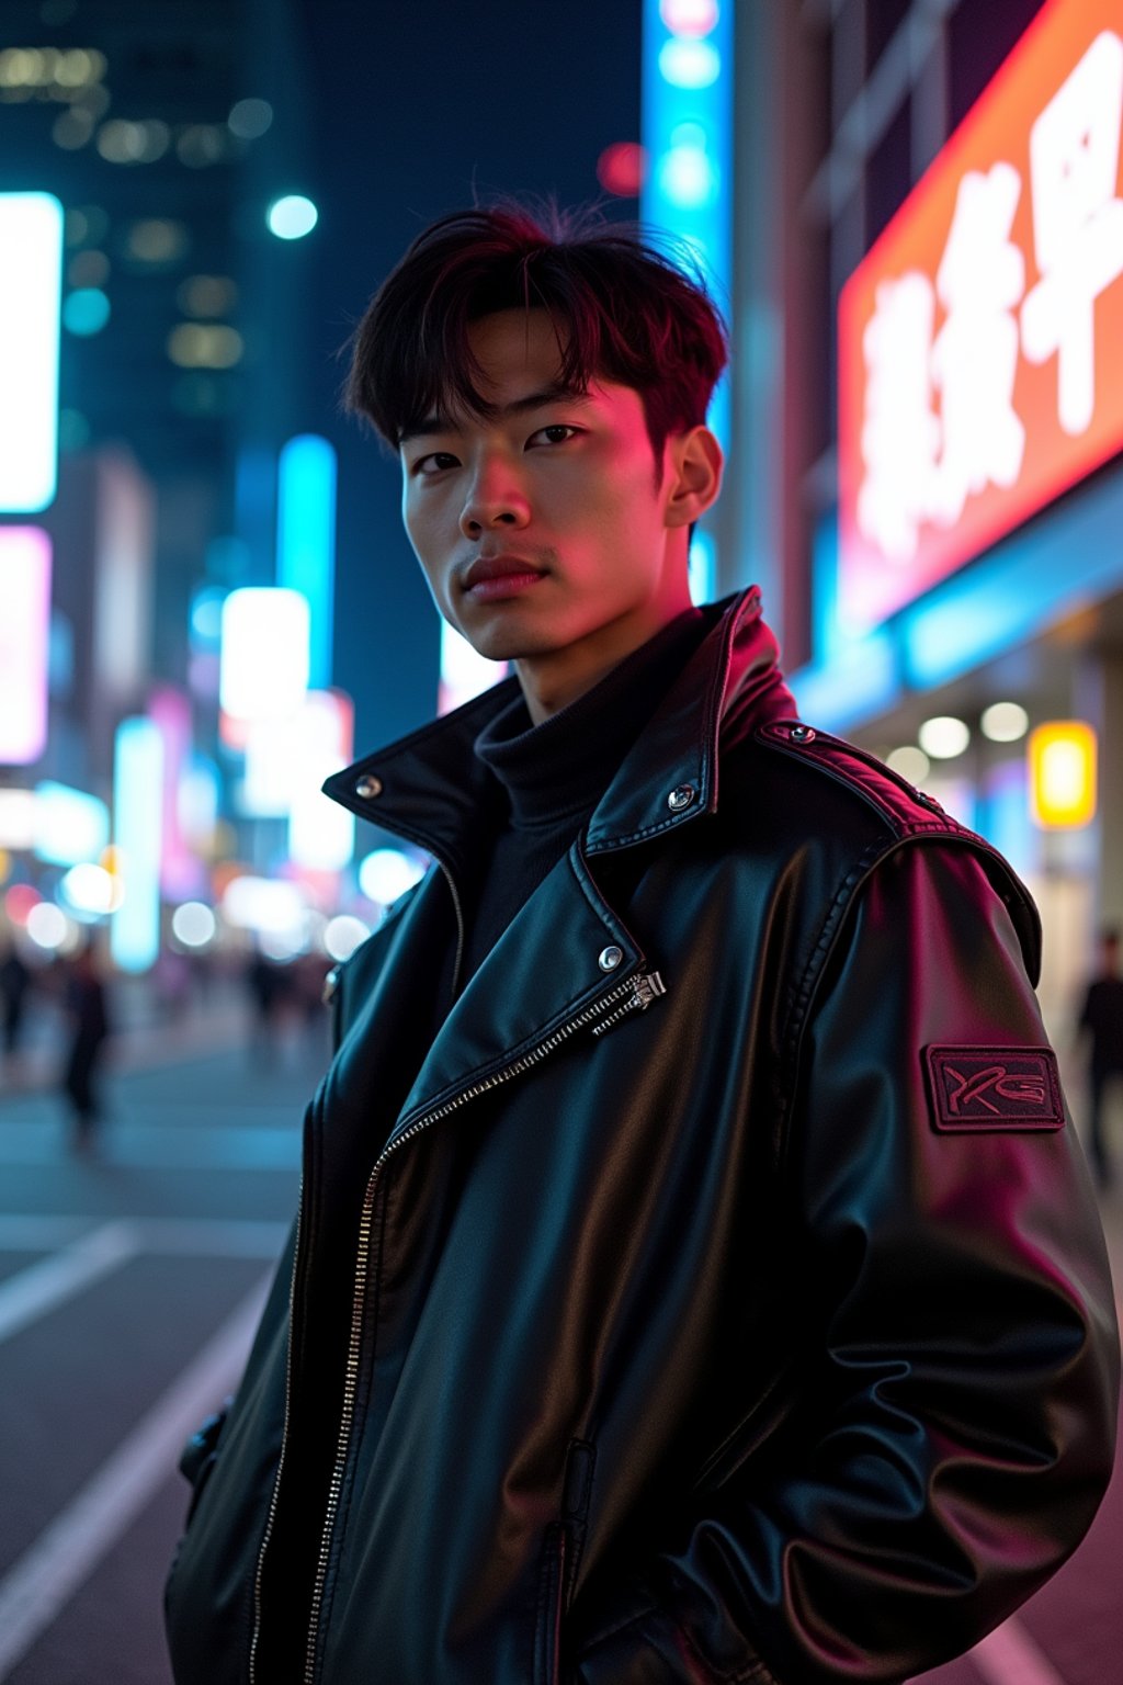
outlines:
[[936, 1129], [1062, 1129], [1052, 1048], [928, 1048]]

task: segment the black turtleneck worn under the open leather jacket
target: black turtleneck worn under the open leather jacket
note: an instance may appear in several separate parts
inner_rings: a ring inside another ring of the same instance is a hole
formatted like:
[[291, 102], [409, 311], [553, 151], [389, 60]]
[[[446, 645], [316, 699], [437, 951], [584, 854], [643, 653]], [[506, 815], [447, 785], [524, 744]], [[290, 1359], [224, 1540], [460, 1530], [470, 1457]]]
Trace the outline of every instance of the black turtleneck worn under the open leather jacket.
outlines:
[[475, 752], [492, 773], [495, 829], [466, 886], [461, 989], [569, 849], [707, 630], [687, 608], [542, 725], [519, 696], [483, 728]]

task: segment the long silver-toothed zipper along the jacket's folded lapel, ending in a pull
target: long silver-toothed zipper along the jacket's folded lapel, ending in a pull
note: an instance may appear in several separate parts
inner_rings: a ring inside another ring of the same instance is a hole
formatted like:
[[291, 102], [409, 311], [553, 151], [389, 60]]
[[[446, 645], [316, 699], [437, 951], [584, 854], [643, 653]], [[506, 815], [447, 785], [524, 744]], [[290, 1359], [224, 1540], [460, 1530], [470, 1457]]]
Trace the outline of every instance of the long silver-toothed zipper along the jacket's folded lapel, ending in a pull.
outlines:
[[[471, 1089], [465, 1089], [461, 1094], [453, 1095], [451, 1100], [446, 1100], [444, 1105], [436, 1107], [436, 1110], [426, 1112], [423, 1117], [412, 1122], [409, 1129], [402, 1131], [402, 1134], [397, 1136], [396, 1141], [392, 1141], [387, 1147], [384, 1147], [379, 1158], [375, 1159], [374, 1169], [370, 1171], [370, 1176], [367, 1180], [367, 1188], [362, 1198], [362, 1215], [359, 1220], [355, 1294], [352, 1299], [350, 1340], [347, 1346], [347, 1368], [343, 1373], [343, 1409], [340, 1414], [340, 1431], [335, 1447], [335, 1464], [332, 1468], [332, 1481], [328, 1484], [328, 1501], [323, 1516], [323, 1533], [320, 1537], [320, 1557], [317, 1560], [317, 1577], [311, 1587], [311, 1607], [308, 1611], [308, 1648], [305, 1651], [305, 1685], [315, 1685], [317, 1678], [317, 1646], [320, 1640], [320, 1614], [323, 1607], [323, 1589], [328, 1575], [328, 1557], [332, 1554], [332, 1533], [335, 1530], [335, 1515], [338, 1511], [338, 1501], [343, 1491], [343, 1479], [347, 1474], [347, 1458], [350, 1454], [355, 1395], [359, 1392], [359, 1353], [362, 1346], [362, 1321], [365, 1314], [365, 1297], [367, 1297], [367, 1254], [370, 1247], [370, 1227], [374, 1222], [374, 1198], [377, 1193], [377, 1181], [382, 1166], [386, 1164], [391, 1153], [394, 1153], [396, 1147], [402, 1146], [402, 1142], [411, 1141], [414, 1136], [419, 1136], [424, 1129], [429, 1127], [429, 1124], [434, 1124], [439, 1119], [448, 1117], [450, 1112], [458, 1110], [468, 1100], [476, 1099], [480, 1094], [487, 1094], [490, 1089], [502, 1087], [502, 1083], [508, 1082], [512, 1077], [517, 1077], [524, 1070], [529, 1070], [532, 1065], [540, 1063], [540, 1060], [544, 1060], [549, 1053], [559, 1048], [562, 1041], [567, 1041], [569, 1036], [574, 1035], [574, 1031], [583, 1030], [586, 1024], [591, 1024], [596, 1018], [609, 1011], [609, 1008], [613, 1008], [625, 996], [631, 998], [623, 1009], [613, 1013], [609, 1019], [611, 1023], [615, 1023], [618, 1018], [623, 1018], [625, 1013], [647, 1011], [652, 1001], [657, 999], [657, 996], [660, 994], [667, 994], [667, 986], [658, 972], [630, 977], [626, 982], [621, 982], [616, 989], [611, 989], [608, 994], [601, 996], [601, 999], [594, 1006], [586, 1008], [584, 1013], [579, 1013], [576, 1018], [571, 1018], [567, 1023], [561, 1024], [561, 1028], [556, 1030], [552, 1036], [547, 1036], [546, 1041], [539, 1041], [535, 1048], [530, 1048], [529, 1053], [524, 1053], [522, 1058], [515, 1060], [512, 1065], [505, 1065], [502, 1070], [493, 1072], [493, 1075], [485, 1077], [483, 1082], [476, 1082], [471, 1085]], [[608, 1023], [603, 1028], [608, 1028]], [[593, 1033], [596, 1035], [596, 1030]], [[286, 1405], [286, 1426], [288, 1426], [288, 1405]], [[281, 1442], [281, 1458], [283, 1456], [285, 1456], [285, 1444]], [[278, 1471], [278, 1479], [279, 1479], [279, 1471]], [[274, 1498], [276, 1498], [276, 1490], [274, 1490]], [[273, 1511], [269, 1513], [269, 1522], [271, 1520], [273, 1520]], [[268, 1540], [268, 1532], [266, 1532], [266, 1540]], [[256, 1633], [254, 1633], [254, 1643], [256, 1643]], [[253, 1682], [253, 1666], [251, 1666], [251, 1682]]]

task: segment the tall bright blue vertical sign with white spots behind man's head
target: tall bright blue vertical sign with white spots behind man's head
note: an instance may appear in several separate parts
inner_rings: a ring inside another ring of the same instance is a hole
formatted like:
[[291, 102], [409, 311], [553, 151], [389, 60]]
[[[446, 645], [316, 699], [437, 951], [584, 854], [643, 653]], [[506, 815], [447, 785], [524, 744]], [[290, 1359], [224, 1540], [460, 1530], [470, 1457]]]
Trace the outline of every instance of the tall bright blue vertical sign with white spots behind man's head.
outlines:
[[[643, 0], [640, 214], [697, 258], [729, 315], [732, 286], [732, 0]], [[729, 448], [729, 381], [709, 425]]]

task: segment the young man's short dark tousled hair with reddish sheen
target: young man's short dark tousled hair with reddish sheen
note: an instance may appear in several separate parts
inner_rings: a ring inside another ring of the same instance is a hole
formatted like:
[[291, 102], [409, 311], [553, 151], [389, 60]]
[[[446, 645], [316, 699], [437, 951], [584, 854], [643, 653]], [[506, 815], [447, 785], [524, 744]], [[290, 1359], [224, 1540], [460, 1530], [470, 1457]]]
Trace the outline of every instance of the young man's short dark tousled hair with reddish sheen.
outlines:
[[727, 340], [702, 278], [635, 227], [517, 204], [456, 211], [414, 239], [350, 340], [345, 408], [394, 448], [433, 411], [487, 416], [468, 325], [512, 308], [549, 312], [562, 386], [599, 376], [640, 394], [657, 463], [668, 433], [705, 421]]

